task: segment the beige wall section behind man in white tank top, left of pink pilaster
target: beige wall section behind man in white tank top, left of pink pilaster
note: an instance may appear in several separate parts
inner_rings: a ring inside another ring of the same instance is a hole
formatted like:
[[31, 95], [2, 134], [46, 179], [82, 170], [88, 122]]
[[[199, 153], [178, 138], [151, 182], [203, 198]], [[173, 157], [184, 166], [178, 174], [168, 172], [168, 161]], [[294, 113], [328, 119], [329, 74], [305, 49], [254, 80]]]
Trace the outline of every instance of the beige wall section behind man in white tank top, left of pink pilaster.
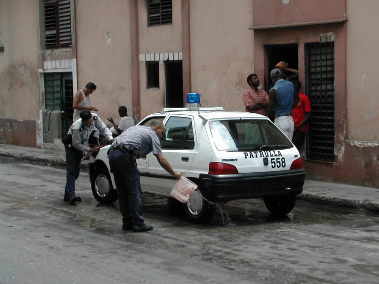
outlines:
[[109, 116], [116, 123], [121, 119], [119, 106], [126, 106], [131, 116], [129, 2], [80, 0], [75, 22], [78, 89], [95, 83], [91, 105], [106, 123]]

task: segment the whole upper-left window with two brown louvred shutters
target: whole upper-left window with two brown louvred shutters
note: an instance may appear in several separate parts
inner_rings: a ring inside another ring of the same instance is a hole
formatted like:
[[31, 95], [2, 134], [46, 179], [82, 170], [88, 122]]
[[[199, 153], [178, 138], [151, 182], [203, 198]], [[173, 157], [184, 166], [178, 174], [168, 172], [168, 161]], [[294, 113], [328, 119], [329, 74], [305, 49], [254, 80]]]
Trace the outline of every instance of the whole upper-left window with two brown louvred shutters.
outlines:
[[47, 49], [71, 46], [70, 0], [45, 0], [44, 23]]

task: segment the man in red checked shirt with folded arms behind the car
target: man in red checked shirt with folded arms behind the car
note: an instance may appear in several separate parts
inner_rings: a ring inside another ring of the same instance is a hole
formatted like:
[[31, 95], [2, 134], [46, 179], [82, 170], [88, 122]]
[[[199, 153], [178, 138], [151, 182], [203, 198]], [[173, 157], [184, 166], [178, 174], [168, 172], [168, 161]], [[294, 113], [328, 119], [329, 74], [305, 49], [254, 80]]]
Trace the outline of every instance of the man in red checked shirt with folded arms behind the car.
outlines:
[[[246, 112], [262, 114], [267, 116], [268, 94], [258, 87], [261, 85], [258, 75], [247, 76], [247, 84], [250, 86], [243, 95]], [[245, 140], [247, 144], [257, 143], [260, 139], [259, 128], [255, 124], [248, 124], [245, 129]]]

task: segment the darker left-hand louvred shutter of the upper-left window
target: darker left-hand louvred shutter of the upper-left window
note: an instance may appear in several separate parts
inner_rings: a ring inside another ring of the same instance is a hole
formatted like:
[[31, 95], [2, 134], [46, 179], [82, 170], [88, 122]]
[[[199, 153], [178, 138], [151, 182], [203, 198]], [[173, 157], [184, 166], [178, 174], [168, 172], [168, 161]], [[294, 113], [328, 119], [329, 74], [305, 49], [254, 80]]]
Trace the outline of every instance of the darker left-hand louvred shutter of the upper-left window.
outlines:
[[45, 46], [55, 47], [58, 45], [56, 32], [56, 2], [45, 3]]

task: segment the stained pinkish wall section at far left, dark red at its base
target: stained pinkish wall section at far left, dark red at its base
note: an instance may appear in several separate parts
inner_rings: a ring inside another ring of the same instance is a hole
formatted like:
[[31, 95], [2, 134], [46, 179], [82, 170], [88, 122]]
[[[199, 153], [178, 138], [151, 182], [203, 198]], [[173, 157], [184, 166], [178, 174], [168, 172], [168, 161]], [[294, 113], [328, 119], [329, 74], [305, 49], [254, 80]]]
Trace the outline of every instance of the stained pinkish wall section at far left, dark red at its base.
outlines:
[[[0, 143], [36, 147], [39, 117], [36, 1], [0, 2]], [[27, 43], [27, 45], [25, 44]]]

